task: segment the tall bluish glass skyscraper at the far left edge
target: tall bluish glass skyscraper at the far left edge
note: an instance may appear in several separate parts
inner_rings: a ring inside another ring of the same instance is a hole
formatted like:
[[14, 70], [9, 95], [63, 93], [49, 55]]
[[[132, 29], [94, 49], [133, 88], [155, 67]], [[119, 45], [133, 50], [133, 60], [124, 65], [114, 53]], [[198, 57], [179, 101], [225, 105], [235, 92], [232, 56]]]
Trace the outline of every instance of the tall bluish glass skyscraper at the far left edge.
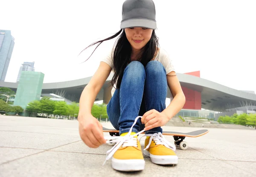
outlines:
[[4, 81], [12, 57], [15, 39], [10, 30], [0, 29], [0, 81]]

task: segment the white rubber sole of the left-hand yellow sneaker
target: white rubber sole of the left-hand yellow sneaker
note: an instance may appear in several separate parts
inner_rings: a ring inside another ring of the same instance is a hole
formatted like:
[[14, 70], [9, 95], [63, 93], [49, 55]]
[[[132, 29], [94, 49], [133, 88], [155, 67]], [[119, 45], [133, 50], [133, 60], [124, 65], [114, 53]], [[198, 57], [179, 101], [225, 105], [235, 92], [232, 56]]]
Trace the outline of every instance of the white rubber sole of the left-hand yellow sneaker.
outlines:
[[145, 168], [143, 159], [119, 160], [112, 157], [112, 168], [118, 171], [141, 171]]

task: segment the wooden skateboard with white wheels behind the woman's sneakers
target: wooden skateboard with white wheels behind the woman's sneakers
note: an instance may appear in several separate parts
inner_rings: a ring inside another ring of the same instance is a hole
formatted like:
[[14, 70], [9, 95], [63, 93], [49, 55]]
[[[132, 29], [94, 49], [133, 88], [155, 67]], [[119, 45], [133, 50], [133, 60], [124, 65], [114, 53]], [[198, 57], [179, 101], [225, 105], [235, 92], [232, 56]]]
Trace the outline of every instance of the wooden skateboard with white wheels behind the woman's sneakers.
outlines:
[[[110, 134], [110, 136], [119, 136], [119, 131], [115, 130], [115, 129], [108, 129], [103, 127], [103, 132], [108, 132]], [[188, 133], [182, 133], [182, 132], [175, 132], [175, 131], [163, 131], [163, 135], [171, 135], [174, 138], [174, 144], [176, 147], [180, 147], [180, 149], [182, 150], [186, 150], [189, 145], [186, 141], [183, 141], [186, 137], [199, 137], [199, 136], [203, 136], [206, 133], [208, 133], [209, 130], [198, 130], [198, 131], [191, 131]], [[143, 134], [145, 134], [145, 132], [143, 132]], [[114, 142], [108, 142], [108, 145], [115, 145]]]

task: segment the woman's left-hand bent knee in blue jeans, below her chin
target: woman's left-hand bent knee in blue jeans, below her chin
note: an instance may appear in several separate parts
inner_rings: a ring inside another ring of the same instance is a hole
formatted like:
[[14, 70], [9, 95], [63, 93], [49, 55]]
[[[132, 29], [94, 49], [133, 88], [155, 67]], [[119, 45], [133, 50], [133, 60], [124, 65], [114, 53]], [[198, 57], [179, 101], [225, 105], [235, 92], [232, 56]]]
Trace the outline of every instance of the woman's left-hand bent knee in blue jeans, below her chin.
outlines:
[[124, 70], [124, 74], [126, 75], [126, 79], [134, 79], [145, 77], [145, 68], [142, 63], [139, 61], [132, 61]]

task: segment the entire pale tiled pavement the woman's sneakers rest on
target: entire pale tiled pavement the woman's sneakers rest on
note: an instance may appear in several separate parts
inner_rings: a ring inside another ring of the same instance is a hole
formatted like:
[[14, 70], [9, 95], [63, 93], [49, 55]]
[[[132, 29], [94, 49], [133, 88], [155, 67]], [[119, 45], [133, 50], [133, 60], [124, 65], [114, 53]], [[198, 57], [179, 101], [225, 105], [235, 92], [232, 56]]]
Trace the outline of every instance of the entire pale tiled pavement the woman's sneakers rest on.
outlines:
[[[113, 128], [110, 123], [102, 125]], [[113, 170], [111, 160], [102, 165], [112, 146], [88, 148], [80, 139], [77, 120], [0, 115], [0, 177], [255, 177], [256, 130], [208, 129], [204, 136], [187, 137], [187, 150], [177, 148], [177, 165], [156, 165], [145, 157], [145, 170], [120, 172]], [[173, 143], [172, 136], [165, 137]], [[144, 148], [144, 138], [141, 144]]]

